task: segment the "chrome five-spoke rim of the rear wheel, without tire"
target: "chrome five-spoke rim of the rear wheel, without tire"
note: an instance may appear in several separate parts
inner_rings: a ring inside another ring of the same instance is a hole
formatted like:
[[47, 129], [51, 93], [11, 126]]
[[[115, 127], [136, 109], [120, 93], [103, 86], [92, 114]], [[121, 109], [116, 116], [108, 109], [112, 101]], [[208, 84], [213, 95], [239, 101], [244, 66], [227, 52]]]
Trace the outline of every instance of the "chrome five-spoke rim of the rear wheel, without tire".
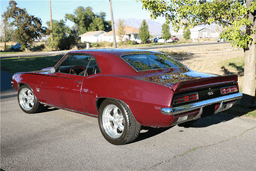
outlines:
[[123, 134], [125, 120], [122, 111], [116, 105], [108, 105], [102, 114], [103, 128], [111, 138], [119, 138]]

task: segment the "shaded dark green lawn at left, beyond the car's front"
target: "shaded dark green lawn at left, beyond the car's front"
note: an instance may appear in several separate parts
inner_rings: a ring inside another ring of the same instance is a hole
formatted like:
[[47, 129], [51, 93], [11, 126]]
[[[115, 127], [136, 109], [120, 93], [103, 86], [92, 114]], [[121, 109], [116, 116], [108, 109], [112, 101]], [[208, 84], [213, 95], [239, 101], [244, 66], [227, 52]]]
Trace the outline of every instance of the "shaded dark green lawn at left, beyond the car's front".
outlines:
[[61, 57], [63, 55], [3, 58], [1, 69], [9, 73], [36, 71], [54, 66]]

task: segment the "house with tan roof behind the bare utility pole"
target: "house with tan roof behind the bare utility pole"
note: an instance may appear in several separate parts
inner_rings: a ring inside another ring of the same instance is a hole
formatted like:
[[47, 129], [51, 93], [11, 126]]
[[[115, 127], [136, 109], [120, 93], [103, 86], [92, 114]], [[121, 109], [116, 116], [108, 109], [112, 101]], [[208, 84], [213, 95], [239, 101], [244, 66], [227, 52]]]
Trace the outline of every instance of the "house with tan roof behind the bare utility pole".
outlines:
[[[125, 26], [124, 31], [125, 31], [125, 35], [124, 35], [122, 41], [133, 40], [138, 43], [141, 42], [141, 40], [139, 38], [139, 29], [138, 28]], [[118, 29], [115, 29], [115, 34], [116, 34], [116, 41], [119, 42]], [[110, 31], [110, 32], [104, 34], [103, 40], [108, 41], [108, 42], [113, 42], [113, 31]]]

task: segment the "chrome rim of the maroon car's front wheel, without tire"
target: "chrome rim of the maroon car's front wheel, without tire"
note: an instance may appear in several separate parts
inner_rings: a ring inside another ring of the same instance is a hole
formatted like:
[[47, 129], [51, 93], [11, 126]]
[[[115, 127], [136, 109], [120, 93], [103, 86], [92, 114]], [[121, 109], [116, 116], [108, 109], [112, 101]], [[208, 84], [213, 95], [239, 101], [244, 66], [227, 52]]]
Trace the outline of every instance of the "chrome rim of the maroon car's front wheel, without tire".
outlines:
[[34, 107], [34, 99], [34, 93], [29, 88], [20, 90], [19, 102], [24, 110], [29, 111]]

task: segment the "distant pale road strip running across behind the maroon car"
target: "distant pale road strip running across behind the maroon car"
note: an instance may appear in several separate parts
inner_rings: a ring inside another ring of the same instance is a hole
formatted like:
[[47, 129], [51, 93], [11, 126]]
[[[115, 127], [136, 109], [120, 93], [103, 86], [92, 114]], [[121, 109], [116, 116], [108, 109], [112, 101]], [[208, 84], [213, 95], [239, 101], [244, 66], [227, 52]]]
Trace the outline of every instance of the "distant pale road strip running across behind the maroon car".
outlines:
[[[172, 48], [172, 47], [187, 47], [187, 46], [202, 46], [202, 45], [215, 45], [215, 44], [226, 44], [226, 42], [204, 42], [204, 43], [190, 43], [190, 44], [178, 44], [178, 45], [156, 45], [150, 47], [138, 47], [136, 49], [159, 49], [159, 48]], [[52, 56], [57, 54], [65, 54], [68, 51], [51, 51], [51, 52], [33, 52], [33, 53], [17, 53], [17, 54], [1, 54], [0, 58], [7, 57], [22, 57], [22, 56]]]

